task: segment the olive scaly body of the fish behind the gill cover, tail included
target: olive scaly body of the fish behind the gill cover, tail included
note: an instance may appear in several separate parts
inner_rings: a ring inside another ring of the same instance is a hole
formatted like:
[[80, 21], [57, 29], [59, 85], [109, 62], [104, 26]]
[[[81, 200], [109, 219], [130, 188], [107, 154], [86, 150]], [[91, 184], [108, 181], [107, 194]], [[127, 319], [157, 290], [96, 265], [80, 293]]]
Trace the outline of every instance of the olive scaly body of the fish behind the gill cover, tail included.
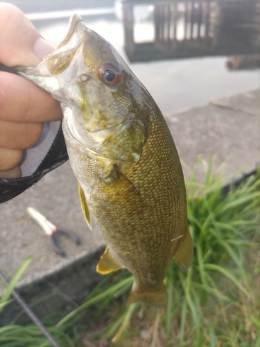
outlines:
[[[171, 257], [185, 241], [188, 256], [180, 260], [180, 267], [187, 269], [192, 241], [182, 168], [160, 111], [155, 106], [150, 114], [148, 140], [137, 163], [123, 165], [96, 158], [73, 148], [70, 140], [67, 147], [89, 214], [119, 261], [116, 269], [126, 267], [135, 278], [129, 302], [166, 305], [163, 280]], [[109, 273], [111, 266], [98, 268]]]

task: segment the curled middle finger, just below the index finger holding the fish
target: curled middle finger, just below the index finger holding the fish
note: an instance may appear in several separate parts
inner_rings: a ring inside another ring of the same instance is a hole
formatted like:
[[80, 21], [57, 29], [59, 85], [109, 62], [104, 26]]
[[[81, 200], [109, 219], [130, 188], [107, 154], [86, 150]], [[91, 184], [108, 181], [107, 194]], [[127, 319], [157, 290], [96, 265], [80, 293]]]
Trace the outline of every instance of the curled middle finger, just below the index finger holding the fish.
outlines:
[[28, 149], [42, 135], [43, 123], [19, 123], [0, 120], [0, 147]]

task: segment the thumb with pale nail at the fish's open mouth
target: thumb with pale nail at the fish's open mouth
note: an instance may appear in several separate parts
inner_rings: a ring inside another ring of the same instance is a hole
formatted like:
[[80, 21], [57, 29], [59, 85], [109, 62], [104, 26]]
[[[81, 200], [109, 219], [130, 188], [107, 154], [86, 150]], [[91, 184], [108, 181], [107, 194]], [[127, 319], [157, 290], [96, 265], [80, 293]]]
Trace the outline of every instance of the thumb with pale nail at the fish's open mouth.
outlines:
[[9, 67], [37, 65], [54, 48], [10, 3], [0, 3], [0, 47], [0, 62]]

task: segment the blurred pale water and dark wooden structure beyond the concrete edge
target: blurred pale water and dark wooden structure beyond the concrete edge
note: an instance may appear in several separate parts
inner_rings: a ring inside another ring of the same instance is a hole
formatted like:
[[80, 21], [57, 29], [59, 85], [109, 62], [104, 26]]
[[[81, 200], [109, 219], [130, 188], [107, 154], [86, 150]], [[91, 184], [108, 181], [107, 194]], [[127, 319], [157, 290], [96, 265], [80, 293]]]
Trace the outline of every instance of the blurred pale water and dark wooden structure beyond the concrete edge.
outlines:
[[70, 15], [110, 41], [164, 115], [259, 87], [259, 1], [13, 0], [55, 46]]

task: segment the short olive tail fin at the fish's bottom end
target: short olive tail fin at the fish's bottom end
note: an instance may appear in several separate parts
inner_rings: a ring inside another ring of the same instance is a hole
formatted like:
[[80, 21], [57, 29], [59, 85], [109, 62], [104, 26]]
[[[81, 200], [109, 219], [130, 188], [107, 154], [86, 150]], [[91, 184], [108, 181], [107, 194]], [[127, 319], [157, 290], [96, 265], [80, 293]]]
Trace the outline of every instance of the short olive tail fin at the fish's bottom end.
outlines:
[[166, 287], [164, 283], [162, 283], [162, 288], [159, 291], [137, 291], [134, 289], [135, 285], [132, 287], [130, 291], [130, 295], [128, 297], [128, 304], [135, 303], [137, 301], [143, 301], [143, 303], [147, 303], [148, 305], [152, 305], [155, 307], [166, 307], [167, 304], [167, 294]]

